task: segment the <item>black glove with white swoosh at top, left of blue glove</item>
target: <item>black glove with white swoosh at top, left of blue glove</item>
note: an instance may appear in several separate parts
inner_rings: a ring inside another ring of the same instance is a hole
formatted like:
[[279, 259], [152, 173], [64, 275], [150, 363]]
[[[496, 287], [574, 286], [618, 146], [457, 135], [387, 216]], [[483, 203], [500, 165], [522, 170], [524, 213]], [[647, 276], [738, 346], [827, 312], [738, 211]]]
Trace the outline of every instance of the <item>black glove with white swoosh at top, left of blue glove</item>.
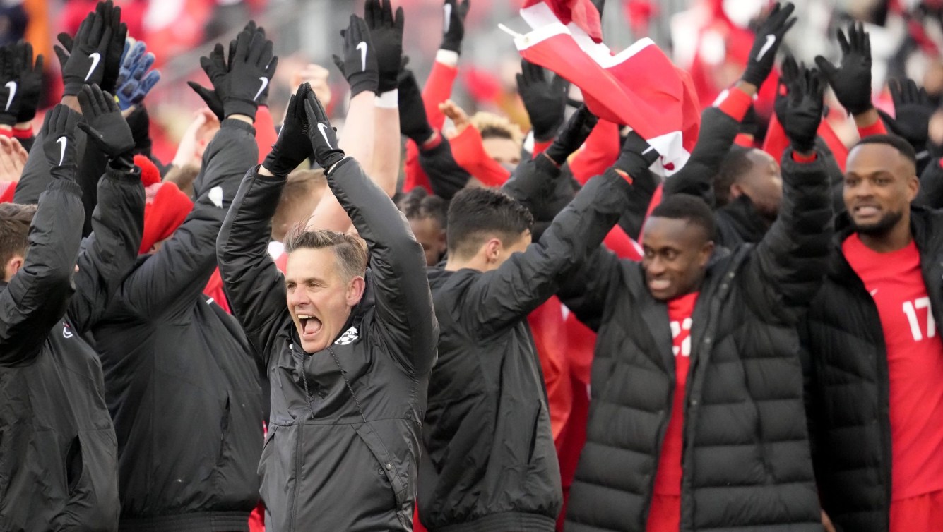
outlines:
[[[60, 41], [61, 36], [60, 36]], [[71, 46], [69, 46], [71, 44]], [[85, 84], [98, 85], [105, 75], [105, 62], [108, 59], [108, 48], [111, 45], [111, 25], [97, 12], [89, 13], [82, 24], [78, 26], [78, 33], [72, 42], [63, 42], [72, 54], [66, 55], [58, 45], [56, 54], [62, 63], [62, 93], [74, 96]], [[123, 44], [124, 46], [124, 44]], [[118, 53], [119, 60], [121, 52]]]

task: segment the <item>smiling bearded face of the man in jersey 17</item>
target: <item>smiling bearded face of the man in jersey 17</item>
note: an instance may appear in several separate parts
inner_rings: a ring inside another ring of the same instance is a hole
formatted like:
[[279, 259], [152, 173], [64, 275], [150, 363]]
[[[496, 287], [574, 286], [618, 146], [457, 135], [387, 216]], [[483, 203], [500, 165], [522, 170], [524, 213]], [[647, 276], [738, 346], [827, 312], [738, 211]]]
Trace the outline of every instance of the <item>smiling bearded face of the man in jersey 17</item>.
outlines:
[[914, 164], [893, 146], [862, 144], [854, 148], [845, 165], [842, 196], [855, 231], [886, 234], [901, 223], [917, 197], [916, 173]]

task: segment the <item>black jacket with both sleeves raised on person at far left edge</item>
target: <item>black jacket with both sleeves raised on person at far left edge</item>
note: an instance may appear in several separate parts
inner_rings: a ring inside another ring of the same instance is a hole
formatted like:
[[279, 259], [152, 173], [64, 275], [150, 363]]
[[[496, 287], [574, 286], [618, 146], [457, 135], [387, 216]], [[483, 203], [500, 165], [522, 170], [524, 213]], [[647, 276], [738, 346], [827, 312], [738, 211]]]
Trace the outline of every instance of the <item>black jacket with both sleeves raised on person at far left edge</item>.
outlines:
[[0, 282], [0, 530], [112, 531], [118, 444], [101, 364], [81, 335], [141, 246], [144, 190], [140, 172], [108, 169], [78, 252], [79, 186], [48, 183], [25, 265]]

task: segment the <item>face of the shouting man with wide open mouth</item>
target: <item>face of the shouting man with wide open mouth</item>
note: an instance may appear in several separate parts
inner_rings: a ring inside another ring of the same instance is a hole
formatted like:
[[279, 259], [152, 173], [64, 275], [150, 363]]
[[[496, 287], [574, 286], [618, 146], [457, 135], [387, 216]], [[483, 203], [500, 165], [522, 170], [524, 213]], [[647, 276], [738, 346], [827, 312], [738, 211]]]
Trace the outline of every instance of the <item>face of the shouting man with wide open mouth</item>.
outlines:
[[290, 253], [285, 267], [289, 312], [306, 352], [318, 352], [338, 337], [363, 286], [362, 277], [344, 280], [334, 250]]

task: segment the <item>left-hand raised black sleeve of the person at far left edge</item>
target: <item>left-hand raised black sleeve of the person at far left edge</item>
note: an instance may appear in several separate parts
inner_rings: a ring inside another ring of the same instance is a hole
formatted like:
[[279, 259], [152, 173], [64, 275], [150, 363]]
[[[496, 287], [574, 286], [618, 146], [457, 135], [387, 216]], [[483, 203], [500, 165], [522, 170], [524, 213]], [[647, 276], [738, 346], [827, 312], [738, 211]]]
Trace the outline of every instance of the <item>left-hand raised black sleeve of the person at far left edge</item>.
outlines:
[[74, 292], [84, 217], [81, 191], [73, 181], [50, 179], [29, 228], [25, 263], [0, 289], [2, 366], [33, 361]]

